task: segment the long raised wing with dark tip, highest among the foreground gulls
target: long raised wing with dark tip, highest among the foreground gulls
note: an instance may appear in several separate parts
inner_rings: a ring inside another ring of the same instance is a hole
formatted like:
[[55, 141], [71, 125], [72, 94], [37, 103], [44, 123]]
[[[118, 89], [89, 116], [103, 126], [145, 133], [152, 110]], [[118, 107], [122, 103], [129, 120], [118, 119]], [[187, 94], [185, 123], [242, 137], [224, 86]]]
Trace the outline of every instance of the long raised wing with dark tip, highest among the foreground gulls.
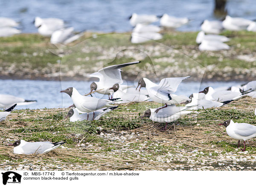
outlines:
[[124, 64], [116, 64], [109, 67], [105, 67], [101, 70], [99, 70], [96, 73], [93, 73], [90, 75], [90, 77], [96, 77], [99, 78], [99, 81], [104, 82], [111, 82], [112, 84], [122, 84], [122, 76], [121, 76], [121, 69], [122, 67], [126, 67], [132, 64], [140, 63], [140, 61], [134, 61]]

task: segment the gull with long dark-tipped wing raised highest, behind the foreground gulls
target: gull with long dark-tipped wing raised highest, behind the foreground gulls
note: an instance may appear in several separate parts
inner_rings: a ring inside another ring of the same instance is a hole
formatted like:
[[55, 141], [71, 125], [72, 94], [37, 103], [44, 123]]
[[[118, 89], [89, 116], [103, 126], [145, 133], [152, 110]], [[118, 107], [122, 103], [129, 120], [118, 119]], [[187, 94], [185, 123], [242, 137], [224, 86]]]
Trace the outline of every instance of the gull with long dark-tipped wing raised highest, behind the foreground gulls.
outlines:
[[120, 84], [120, 87], [125, 88], [126, 85], [122, 85], [123, 80], [121, 76], [121, 68], [127, 67], [132, 64], [138, 64], [141, 61], [134, 61], [124, 64], [116, 64], [109, 67], [105, 67], [99, 70], [96, 73], [90, 75], [90, 77], [99, 78], [98, 82], [93, 82], [90, 84], [90, 93], [93, 91], [97, 91], [100, 94], [111, 95], [113, 90], [109, 91], [109, 88], [113, 86], [113, 84]]

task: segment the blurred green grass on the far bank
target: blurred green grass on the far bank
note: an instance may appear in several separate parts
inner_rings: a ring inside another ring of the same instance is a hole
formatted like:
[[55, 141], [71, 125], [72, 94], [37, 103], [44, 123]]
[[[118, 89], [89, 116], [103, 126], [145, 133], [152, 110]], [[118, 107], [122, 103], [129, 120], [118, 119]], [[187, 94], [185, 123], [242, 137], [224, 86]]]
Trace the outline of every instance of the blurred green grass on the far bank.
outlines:
[[[230, 37], [230, 41], [227, 44], [231, 46], [231, 49], [227, 51], [227, 54], [221, 51], [210, 52], [211, 55], [209, 55], [209, 52], [198, 51], [198, 44], [195, 43], [197, 33], [166, 32], [164, 33], [163, 39], [144, 44], [131, 44], [129, 33], [97, 34], [96, 38], [91, 38], [93, 33], [86, 33], [79, 41], [63, 49], [61, 53], [66, 54], [63, 58], [49, 52], [48, 49], [56, 49], [54, 45], [49, 44], [49, 38], [38, 34], [21, 34], [8, 38], [0, 38], [0, 63], [2, 63], [3, 67], [11, 64], [19, 64], [22, 68], [28, 67], [41, 71], [42, 68], [48, 67], [49, 64], [58, 65], [58, 60], [61, 60], [64, 69], [67, 66], [72, 70], [73, 63], [71, 61], [76, 61], [76, 64], [80, 65], [80, 68], [90, 73], [90, 67], [95, 66], [95, 64], [98, 65], [99, 62], [103, 62], [105, 66], [121, 64], [127, 61], [138, 60], [136, 55], [144, 53], [145, 56], [149, 55], [149, 57], [144, 58], [142, 60], [143, 63], [137, 65], [141, 70], [145, 70], [148, 64], [157, 65], [157, 70], [165, 69], [166, 67], [180, 67], [186, 70], [186, 68], [207, 67], [208, 65], [215, 65], [213, 69], [219, 68], [220, 70], [224, 67], [241, 69], [256, 67], [256, 62], [246, 62], [236, 58], [237, 55], [247, 55], [256, 52], [254, 47], [256, 43], [255, 32], [222, 32], [221, 35]], [[148, 51], [148, 47], [151, 46], [154, 48], [162, 47], [163, 49], [160, 52], [154, 53]], [[169, 52], [171, 48], [177, 49], [179, 52], [173, 54], [173, 52]], [[113, 58], [105, 56], [102, 51], [106, 51], [106, 54], [113, 54]], [[123, 55], [121, 51], [127, 51], [128, 53]], [[197, 51], [198, 55], [194, 56], [195, 52], [193, 51]], [[129, 52], [134, 55], [130, 55]], [[104, 59], [99, 58], [100, 56], [104, 56]], [[174, 58], [175, 62], [161, 60], [155, 62], [159, 58], [169, 58], [170, 56]], [[132, 70], [133, 68], [126, 67], [126, 70]], [[49, 72], [43, 71], [41, 73]]]

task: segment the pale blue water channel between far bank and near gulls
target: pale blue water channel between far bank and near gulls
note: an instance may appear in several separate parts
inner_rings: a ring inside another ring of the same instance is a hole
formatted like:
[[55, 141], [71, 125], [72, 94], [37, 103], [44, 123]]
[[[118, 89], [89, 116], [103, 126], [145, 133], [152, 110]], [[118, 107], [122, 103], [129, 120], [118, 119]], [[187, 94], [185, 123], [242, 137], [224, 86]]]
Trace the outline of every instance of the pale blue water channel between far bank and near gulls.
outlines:
[[[88, 81], [38, 81], [38, 80], [0, 80], [2, 87], [0, 94], [11, 94], [28, 100], [37, 100], [32, 105], [17, 106], [17, 109], [38, 109], [38, 108], [67, 108], [73, 102], [66, 93], [60, 93], [68, 87], [75, 87], [79, 93], [90, 92], [90, 82]], [[244, 82], [196, 82], [184, 80], [178, 87], [176, 94], [189, 96], [194, 92], [203, 90], [205, 87], [230, 87], [231, 85], [242, 84]], [[128, 82], [129, 85], [137, 82]], [[94, 93], [94, 97], [102, 98], [102, 94]], [[103, 98], [108, 98], [103, 96]]]

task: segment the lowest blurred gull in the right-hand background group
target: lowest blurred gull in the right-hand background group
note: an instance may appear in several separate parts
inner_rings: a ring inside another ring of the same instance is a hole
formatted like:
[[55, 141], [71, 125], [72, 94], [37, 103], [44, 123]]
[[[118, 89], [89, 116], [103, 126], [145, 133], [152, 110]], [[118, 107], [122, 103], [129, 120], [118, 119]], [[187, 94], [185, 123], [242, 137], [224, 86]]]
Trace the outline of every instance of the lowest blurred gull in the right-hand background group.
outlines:
[[219, 51], [219, 50], [228, 50], [230, 46], [221, 41], [208, 41], [202, 40], [201, 44], [199, 45], [199, 50], [201, 51]]

